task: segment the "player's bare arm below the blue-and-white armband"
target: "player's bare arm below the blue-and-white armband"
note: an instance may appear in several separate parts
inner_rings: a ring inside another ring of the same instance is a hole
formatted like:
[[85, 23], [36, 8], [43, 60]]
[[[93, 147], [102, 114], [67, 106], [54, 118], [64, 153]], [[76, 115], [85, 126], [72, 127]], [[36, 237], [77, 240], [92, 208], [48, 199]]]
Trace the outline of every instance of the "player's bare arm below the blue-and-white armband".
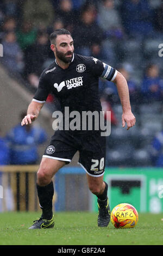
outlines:
[[117, 86], [118, 95], [121, 100], [122, 105], [122, 126], [125, 127], [127, 123], [127, 130], [130, 129], [130, 127], [133, 127], [135, 125], [136, 119], [134, 117], [134, 114], [131, 112], [131, 106], [130, 106], [130, 99], [129, 99], [129, 90], [128, 90], [128, 84], [126, 81], [126, 78], [117, 71], [117, 75], [112, 80]]

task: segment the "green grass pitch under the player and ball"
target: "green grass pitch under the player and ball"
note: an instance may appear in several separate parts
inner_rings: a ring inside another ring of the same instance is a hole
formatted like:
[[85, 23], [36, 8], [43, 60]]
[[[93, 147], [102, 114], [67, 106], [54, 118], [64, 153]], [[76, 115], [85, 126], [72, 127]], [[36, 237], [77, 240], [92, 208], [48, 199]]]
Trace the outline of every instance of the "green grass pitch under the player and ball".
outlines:
[[97, 227], [97, 213], [56, 212], [53, 229], [28, 230], [40, 212], [0, 214], [0, 245], [163, 245], [163, 214], [139, 214], [133, 229]]

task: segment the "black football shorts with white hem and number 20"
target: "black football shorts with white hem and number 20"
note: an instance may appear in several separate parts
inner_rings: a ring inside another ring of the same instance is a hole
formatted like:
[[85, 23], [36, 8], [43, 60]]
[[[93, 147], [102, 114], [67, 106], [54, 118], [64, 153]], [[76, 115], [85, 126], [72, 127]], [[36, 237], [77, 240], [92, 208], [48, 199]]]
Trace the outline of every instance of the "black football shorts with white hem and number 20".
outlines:
[[91, 176], [102, 176], [105, 169], [106, 137], [100, 131], [80, 134], [76, 131], [55, 131], [43, 157], [70, 163], [79, 151], [78, 163]]

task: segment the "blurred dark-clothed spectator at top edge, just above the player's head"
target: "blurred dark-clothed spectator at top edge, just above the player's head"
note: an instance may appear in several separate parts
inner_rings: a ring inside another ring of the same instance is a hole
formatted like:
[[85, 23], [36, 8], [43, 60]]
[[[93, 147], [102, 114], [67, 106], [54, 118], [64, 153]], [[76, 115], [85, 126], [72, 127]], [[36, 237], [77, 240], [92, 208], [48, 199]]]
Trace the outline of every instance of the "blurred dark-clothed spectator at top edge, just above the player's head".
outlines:
[[62, 21], [64, 28], [72, 33], [73, 23], [78, 21], [76, 12], [73, 10], [72, 0], [60, 0], [56, 16]]

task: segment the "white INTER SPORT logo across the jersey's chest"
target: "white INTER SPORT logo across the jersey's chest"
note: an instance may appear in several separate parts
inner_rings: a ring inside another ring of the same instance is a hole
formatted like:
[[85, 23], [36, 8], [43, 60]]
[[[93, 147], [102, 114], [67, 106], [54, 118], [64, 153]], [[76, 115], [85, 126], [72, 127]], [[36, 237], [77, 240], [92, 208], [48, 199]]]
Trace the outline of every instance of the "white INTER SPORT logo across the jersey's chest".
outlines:
[[60, 84], [54, 83], [54, 87], [58, 90], [58, 92], [60, 92], [64, 86], [66, 86], [67, 89], [83, 86], [83, 76], [71, 78], [69, 80], [61, 82]]

